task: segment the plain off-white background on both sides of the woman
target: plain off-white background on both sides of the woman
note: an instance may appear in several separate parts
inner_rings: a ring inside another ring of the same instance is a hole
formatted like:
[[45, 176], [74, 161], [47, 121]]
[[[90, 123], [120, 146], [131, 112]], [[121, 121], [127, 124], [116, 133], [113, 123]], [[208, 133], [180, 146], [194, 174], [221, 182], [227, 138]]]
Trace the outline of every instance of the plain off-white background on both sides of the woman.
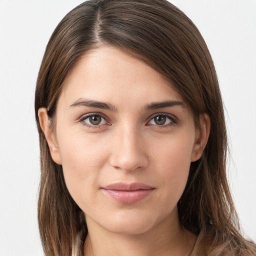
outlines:
[[[0, 256], [43, 255], [36, 220], [36, 76], [48, 38], [82, 0], [0, 0]], [[226, 108], [228, 177], [242, 227], [256, 240], [256, 0], [172, 0], [197, 25]]]

